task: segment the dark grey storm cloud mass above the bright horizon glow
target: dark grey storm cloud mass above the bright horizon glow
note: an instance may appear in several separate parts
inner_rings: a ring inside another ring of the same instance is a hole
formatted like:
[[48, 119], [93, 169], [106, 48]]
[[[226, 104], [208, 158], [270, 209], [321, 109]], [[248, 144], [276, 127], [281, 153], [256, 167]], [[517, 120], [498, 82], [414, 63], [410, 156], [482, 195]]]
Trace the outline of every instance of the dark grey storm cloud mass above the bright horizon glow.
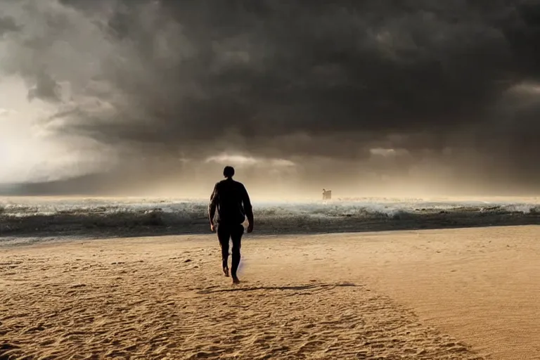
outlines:
[[[0, 9], [17, 24], [4, 34], [2, 68], [33, 84], [33, 96], [70, 99], [51, 118], [63, 120], [60, 134], [188, 158], [454, 148], [536, 172], [539, 105], [529, 93], [540, 81], [540, 1], [51, 0]], [[527, 94], [510, 90], [525, 82]]]

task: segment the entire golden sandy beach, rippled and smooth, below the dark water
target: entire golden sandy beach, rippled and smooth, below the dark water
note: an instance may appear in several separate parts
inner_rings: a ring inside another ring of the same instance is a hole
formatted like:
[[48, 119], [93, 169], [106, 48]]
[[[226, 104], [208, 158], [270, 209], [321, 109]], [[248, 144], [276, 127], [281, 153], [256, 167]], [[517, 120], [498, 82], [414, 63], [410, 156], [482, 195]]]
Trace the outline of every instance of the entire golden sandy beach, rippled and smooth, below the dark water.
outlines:
[[540, 227], [0, 248], [0, 359], [540, 359]]

